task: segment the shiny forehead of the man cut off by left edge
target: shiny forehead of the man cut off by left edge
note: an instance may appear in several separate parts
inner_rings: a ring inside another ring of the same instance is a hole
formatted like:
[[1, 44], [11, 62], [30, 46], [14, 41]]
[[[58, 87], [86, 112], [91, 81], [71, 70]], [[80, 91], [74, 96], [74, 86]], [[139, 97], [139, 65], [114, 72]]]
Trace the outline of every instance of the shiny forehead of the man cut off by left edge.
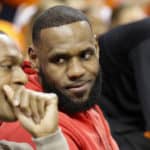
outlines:
[[5, 34], [0, 34], [0, 57], [4, 55], [21, 56], [15, 42]]

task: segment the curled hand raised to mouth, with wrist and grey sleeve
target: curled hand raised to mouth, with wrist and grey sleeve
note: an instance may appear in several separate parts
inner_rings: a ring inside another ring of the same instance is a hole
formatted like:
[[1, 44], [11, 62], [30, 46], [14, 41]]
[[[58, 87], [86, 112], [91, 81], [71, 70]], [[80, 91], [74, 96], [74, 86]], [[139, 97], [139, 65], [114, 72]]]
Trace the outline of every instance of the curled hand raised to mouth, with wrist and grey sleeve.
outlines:
[[5, 86], [5, 92], [16, 117], [33, 136], [37, 149], [68, 150], [66, 139], [58, 128], [58, 100], [55, 94], [35, 92], [23, 87], [13, 91], [10, 86]]

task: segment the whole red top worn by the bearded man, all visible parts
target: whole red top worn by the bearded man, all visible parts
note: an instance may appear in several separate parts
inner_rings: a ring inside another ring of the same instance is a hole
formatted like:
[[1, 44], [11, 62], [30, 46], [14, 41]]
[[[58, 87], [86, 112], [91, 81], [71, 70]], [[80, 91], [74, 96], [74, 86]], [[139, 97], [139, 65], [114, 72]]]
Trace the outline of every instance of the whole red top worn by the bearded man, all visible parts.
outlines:
[[[42, 91], [36, 73], [30, 74], [29, 79], [28, 88]], [[110, 135], [108, 124], [98, 106], [71, 117], [59, 112], [59, 126], [67, 139], [70, 150], [118, 150]], [[0, 139], [26, 142], [35, 149], [35, 145], [31, 141], [31, 135], [18, 122], [2, 123]]]

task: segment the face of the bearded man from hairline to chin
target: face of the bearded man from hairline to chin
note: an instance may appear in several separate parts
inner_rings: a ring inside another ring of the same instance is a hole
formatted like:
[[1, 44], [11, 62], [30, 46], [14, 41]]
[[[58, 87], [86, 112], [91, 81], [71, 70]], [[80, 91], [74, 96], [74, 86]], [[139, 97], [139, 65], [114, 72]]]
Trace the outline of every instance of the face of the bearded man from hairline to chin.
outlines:
[[37, 55], [46, 81], [73, 102], [84, 103], [98, 73], [97, 51], [89, 24], [79, 21], [42, 29]]

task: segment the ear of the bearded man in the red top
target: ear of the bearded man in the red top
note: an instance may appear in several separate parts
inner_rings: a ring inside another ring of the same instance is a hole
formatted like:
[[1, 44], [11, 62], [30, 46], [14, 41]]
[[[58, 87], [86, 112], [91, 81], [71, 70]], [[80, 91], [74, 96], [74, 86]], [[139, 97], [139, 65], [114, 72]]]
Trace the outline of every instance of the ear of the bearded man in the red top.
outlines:
[[32, 69], [35, 69], [36, 71], [38, 71], [39, 70], [39, 61], [38, 61], [38, 57], [36, 54], [36, 50], [33, 45], [31, 45], [29, 47], [28, 55], [29, 55], [29, 60], [31, 62]]

